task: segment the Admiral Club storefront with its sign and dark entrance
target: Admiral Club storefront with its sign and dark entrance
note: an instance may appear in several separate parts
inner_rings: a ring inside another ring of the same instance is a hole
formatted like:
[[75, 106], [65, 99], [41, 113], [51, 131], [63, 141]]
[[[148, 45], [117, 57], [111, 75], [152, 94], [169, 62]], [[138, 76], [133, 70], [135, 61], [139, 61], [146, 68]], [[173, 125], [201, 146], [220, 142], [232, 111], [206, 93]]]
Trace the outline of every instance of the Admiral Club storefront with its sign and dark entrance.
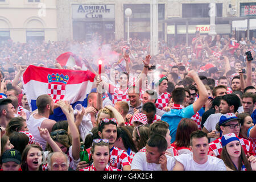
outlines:
[[115, 5], [72, 5], [73, 39], [115, 38]]

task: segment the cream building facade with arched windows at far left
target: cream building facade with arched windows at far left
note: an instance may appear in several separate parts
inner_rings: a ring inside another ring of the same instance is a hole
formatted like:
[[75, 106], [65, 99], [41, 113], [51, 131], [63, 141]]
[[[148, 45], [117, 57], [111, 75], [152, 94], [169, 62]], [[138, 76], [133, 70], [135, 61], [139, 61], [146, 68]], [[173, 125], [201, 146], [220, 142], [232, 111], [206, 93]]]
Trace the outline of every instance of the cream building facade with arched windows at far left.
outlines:
[[57, 40], [55, 0], [0, 0], [0, 41]]

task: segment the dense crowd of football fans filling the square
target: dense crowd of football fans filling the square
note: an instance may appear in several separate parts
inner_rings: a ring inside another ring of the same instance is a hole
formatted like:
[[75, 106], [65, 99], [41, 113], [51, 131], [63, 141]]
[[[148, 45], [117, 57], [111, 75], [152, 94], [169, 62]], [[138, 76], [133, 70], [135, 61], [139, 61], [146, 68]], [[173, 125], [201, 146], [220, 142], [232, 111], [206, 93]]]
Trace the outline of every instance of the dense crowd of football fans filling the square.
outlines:
[[[60, 65], [72, 52], [83, 67]], [[195, 32], [191, 44], [150, 55], [150, 40], [1, 43], [2, 171], [256, 170], [255, 39]], [[104, 67], [98, 74], [98, 60]], [[29, 65], [89, 70], [87, 105], [38, 96], [20, 77]], [[60, 107], [67, 120], [49, 119]]]

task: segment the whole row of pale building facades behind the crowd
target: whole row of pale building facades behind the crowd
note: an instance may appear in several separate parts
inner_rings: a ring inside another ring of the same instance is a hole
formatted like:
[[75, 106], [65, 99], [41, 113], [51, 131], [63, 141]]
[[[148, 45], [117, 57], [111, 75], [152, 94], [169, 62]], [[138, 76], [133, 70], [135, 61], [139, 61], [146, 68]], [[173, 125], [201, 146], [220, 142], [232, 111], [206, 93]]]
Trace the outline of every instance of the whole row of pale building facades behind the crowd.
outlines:
[[[150, 39], [150, 0], [0, 0], [0, 40]], [[191, 42], [195, 31], [210, 32], [210, 3], [221, 35], [256, 36], [255, 0], [158, 0], [159, 40]], [[249, 23], [247, 23], [249, 22]], [[247, 31], [247, 29], [250, 31]]]

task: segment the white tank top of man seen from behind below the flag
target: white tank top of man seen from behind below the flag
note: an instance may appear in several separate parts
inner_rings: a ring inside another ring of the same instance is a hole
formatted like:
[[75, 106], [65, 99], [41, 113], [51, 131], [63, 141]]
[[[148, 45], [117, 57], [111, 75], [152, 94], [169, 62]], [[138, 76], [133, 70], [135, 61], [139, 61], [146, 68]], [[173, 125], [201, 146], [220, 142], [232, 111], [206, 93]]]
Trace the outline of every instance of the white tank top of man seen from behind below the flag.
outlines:
[[[34, 113], [34, 114], [36, 114], [36, 113]], [[44, 150], [46, 148], [46, 140], [44, 140], [40, 136], [38, 126], [41, 127], [42, 122], [47, 118], [43, 117], [43, 118], [40, 118], [40, 119], [35, 119], [34, 114], [30, 115], [30, 118], [27, 121], [28, 131], [34, 136], [35, 142], [39, 142], [42, 145], [43, 150]]]

